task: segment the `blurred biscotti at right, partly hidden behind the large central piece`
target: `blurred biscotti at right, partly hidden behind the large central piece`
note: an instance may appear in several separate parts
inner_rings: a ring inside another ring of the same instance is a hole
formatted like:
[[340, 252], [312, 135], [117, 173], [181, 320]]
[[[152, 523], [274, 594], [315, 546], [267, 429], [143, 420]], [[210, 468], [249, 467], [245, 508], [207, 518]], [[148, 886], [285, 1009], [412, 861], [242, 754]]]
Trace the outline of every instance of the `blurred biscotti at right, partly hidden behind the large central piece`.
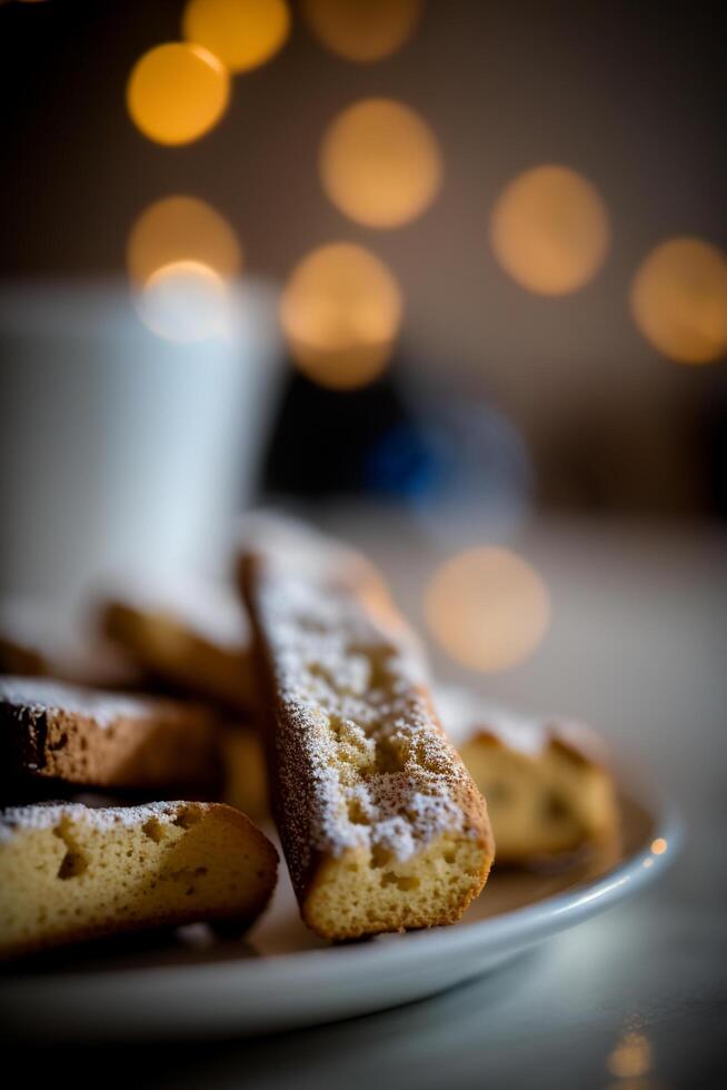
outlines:
[[487, 799], [497, 862], [524, 863], [617, 835], [618, 807], [600, 739], [562, 716], [525, 716], [462, 688], [437, 711]]

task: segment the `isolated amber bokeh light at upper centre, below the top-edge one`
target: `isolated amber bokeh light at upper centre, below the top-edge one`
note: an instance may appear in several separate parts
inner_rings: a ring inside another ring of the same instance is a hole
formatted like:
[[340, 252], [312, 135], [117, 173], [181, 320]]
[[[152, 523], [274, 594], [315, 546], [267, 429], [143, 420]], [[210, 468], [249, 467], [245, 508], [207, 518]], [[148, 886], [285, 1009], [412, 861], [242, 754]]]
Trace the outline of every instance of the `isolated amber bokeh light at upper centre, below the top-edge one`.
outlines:
[[428, 125], [391, 99], [365, 99], [333, 119], [319, 155], [336, 207], [367, 227], [420, 216], [441, 185], [441, 156]]

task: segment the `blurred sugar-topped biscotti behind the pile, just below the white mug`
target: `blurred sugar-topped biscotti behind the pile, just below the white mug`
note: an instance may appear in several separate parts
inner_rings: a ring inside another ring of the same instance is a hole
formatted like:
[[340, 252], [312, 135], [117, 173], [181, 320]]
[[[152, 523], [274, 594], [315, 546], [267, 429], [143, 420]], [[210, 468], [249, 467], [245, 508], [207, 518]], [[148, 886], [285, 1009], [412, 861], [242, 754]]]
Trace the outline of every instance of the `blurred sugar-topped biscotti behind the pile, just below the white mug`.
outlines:
[[255, 707], [250, 627], [231, 587], [129, 579], [100, 607], [99, 627], [152, 678], [237, 711]]

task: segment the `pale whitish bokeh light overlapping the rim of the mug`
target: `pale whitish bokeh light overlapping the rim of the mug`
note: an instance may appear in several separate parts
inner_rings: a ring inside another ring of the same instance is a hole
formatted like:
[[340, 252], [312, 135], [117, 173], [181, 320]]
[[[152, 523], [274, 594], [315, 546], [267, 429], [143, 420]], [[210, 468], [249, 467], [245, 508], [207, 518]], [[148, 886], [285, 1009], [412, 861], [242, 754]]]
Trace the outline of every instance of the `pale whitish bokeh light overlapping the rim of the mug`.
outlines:
[[138, 296], [137, 309], [145, 325], [168, 340], [205, 340], [230, 331], [228, 286], [201, 261], [172, 261], [157, 269]]

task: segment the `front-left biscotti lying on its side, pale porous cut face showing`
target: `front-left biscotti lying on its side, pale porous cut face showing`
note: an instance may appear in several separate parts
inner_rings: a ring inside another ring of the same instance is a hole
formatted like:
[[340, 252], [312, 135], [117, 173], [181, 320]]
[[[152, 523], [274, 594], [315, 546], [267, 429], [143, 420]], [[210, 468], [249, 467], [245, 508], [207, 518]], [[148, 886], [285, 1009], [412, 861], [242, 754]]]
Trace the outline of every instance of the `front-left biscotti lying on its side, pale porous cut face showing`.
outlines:
[[260, 830], [220, 803], [2, 810], [0, 957], [200, 920], [245, 926], [277, 865]]

